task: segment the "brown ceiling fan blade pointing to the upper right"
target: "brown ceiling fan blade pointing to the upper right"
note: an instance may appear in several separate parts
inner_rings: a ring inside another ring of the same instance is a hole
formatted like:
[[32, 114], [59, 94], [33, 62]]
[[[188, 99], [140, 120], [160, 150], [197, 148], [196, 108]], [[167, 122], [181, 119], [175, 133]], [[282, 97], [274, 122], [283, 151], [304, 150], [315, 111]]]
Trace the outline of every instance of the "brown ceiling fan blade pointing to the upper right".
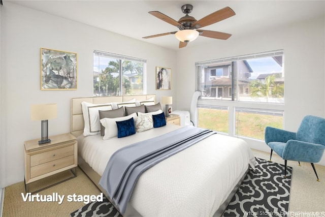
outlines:
[[201, 28], [201, 27], [219, 22], [226, 18], [232, 17], [234, 15], [235, 15], [235, 12], [233, 11], [233, 9], [231, 9], [230, 7], [225, 7], [223, 9], [213, 12], [212, 14], [209, 14], [208, 16], [205, 16], [202, 19], [194, 22], [192, 24], [192, 27], [196, 28], [196, 29]]

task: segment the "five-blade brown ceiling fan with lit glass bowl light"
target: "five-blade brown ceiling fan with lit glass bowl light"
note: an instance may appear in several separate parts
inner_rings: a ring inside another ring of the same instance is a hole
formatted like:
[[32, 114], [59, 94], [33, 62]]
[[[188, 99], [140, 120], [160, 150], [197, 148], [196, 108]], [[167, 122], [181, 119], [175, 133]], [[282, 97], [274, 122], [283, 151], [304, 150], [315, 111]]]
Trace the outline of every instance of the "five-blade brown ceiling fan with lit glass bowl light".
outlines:
[[188, 42], [195, 40], [199, 35], [213, 38], [213, 39], [222, 39], [222, 40], [226, 40], [232, 36], [231, 34], [228, 33], [221, 33], [221, 32], [216, 32], [211, 30], [199, 29], [201, 27], [211, 25], [213, 23], [234, 16], [235, 12], [230, 7], [225, 7], [218, 11], [215, 11], [212, 14], [209, 14], [208, 16], [205, 16], [200, 20], [196, 20], [194, 17], [188, 15], [193, 10], [192, 5], [188, 5], [188, 4], [183, 5], [181, 9], [182, 12], [185, 14], [185, 16], [181, 17], [178, 21], [174, 20], [173, 18], [170, 18], [169, 16], [163, 13], [160, 13], [159, 11], [150, 11], [149, 14], [176, 26], [177, 28], [179, 28], [179, 31], [157, 34], [157, 35], [147, 36], [143, 38], [149, 39], [149, 38], [154, 38], [159, 36], [175, 35], [176, 38], [180, 41], [179, 48], [183, 48], [186, 47]]

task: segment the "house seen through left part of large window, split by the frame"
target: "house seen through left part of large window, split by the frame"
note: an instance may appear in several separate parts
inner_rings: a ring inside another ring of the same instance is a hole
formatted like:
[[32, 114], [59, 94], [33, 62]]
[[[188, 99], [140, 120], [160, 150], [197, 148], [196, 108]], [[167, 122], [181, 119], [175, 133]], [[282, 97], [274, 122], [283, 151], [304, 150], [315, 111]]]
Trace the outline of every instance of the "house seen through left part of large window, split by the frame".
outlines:
[[253, 72], [246, 60], [232, 63], [222, 63], [204, 68], [202, 77], [203, 96], [215, 98], [232, 98], [232, 67], [239, 71], [238, 83], [239, 94], [248, 94], [250, 73]]

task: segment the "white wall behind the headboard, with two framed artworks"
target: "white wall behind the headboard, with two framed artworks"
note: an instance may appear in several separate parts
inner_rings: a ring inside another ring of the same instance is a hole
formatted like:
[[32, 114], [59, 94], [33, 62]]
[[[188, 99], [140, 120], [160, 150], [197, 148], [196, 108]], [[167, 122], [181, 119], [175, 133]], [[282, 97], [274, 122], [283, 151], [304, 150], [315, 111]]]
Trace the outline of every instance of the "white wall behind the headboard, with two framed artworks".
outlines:
[[[70, 132], [70, 99], [93, 93], [93, 50], [147, 59], [147, 94], [176, 98], [155, 90], [155, 67], [176, 69], [176, 51], [123, 37], [103, 29], [17, 6], [8, 1], [1, 13], [1, 165], [2, 187], [24, 180], [24, 141], [40, 138], [41, 122], [30, 120], [30, 105], [57, 103], [49, 136]], [[40, 48], [78, 53], [77, 90], [40, 90]]]

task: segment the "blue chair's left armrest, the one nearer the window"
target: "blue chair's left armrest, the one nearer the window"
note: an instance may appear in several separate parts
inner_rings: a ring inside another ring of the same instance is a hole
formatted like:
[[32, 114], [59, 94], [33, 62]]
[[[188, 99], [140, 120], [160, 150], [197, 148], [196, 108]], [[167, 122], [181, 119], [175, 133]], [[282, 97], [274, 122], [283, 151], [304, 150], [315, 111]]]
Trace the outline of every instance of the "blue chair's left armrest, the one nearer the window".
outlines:
[[268, 144], [269, 142], [284, 142], [286, 143], [290, 139], [296, 139], [296, 133], [281, 130], [273, 127], [265, 128], [265, 142]]

